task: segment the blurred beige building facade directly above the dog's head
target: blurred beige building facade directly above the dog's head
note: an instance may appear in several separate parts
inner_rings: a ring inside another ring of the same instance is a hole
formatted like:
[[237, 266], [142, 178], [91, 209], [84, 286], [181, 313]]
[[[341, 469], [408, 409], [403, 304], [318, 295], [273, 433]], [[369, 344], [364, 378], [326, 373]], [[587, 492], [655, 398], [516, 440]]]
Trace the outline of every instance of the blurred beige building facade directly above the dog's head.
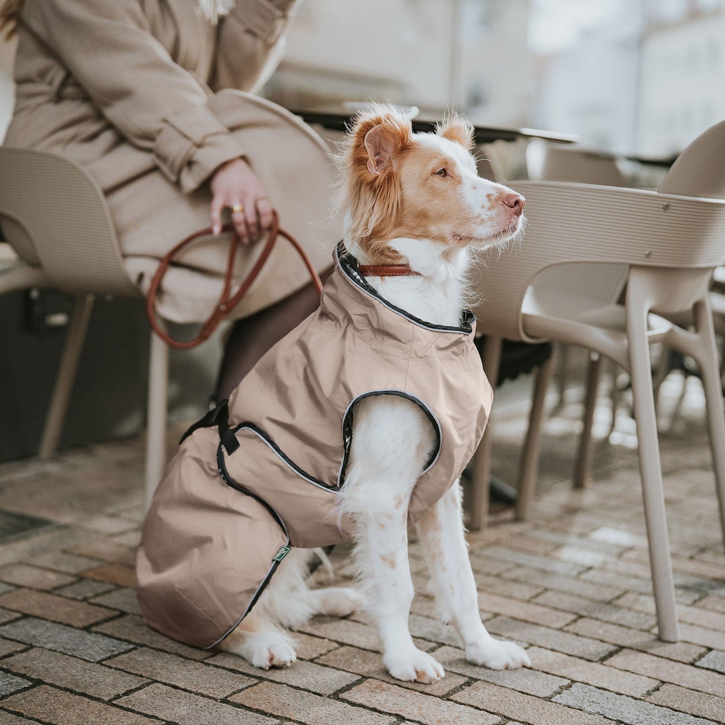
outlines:
[[524, 125], [529, 0], [305, 0], [265, 95], [288, 107], [390, 100]]

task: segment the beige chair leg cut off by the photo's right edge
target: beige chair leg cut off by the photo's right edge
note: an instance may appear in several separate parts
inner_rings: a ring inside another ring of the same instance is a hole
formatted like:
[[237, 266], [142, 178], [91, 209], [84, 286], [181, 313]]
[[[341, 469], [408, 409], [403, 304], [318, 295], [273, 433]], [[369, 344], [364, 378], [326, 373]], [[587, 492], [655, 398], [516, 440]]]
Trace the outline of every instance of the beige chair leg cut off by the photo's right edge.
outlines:
[[703, 340], [703, 352], [697, 362], [703, 377], [705, 402], [708, 408], [708, 432], [713, 453], [713, 468], [720, 505], [720, 523], [725, 541], [725, 415], [720, 371], [718, 369], [718, 349], [713, 328], [712, 311], [707, 302], [695, 305], [697, 332]]

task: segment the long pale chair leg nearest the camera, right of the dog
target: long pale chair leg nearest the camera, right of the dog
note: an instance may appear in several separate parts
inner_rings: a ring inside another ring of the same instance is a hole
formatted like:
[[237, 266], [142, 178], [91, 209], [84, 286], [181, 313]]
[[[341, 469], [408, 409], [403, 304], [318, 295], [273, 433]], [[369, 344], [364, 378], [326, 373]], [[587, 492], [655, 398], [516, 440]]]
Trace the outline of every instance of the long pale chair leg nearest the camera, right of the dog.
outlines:
[[660, 466], [660, 447], [657, 435], [657, 416], [650, 368], [650, 348], [647, 342], [647, 310], [637, 299], [630, 283], [627, 291], [627, 336], [629, 365], [634, 397], [634, 417], [639, 442], [639, 471], [642, 476], [642, 497], [645, 502], [647, 539], [650, 544], [657, 623], [660, 639], [677, 642], [679, 624], [675, 603], [670, 543], [667, 533], [665, 492]]

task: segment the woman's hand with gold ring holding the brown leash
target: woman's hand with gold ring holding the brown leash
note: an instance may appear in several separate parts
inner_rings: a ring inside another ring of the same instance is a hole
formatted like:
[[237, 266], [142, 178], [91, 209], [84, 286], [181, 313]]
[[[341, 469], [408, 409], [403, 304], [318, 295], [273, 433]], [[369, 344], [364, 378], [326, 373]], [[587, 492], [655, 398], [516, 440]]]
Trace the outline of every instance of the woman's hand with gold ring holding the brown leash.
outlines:
[[222, 210], [233, 211], [231, 219], [236, 233], [244, 244], [254, 241], [272, 227], [272, 204], [260, 178], [244, 159], [233, 159], [221, 165], [212, 176], [212, 228], [218, 234], [222, 228]]

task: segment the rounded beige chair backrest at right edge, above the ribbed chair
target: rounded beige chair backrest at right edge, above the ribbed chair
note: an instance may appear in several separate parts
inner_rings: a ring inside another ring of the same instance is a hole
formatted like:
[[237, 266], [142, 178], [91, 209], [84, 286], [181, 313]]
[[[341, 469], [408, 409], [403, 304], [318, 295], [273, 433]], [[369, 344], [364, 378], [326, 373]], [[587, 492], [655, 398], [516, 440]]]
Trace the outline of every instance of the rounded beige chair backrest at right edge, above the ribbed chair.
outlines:
[[684, 149], [658, 191], [704, 199], [725, 198], [725, 121], [708, 128]]

